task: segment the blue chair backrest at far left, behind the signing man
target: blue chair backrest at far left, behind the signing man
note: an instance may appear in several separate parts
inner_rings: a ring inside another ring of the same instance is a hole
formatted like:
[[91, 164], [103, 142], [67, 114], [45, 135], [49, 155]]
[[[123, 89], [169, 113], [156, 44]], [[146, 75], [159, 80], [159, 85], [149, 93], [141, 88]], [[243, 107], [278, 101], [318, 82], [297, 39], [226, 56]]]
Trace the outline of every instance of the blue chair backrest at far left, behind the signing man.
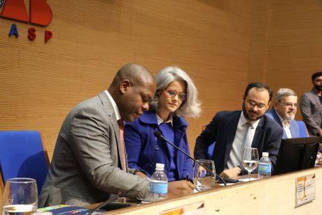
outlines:
[[32, 177], [37, 182], [39, 194], [48, 166], [48, 154], [42, 146], [39, 132], [0, 132], [0, 171], [3, 182], [12, 177]]

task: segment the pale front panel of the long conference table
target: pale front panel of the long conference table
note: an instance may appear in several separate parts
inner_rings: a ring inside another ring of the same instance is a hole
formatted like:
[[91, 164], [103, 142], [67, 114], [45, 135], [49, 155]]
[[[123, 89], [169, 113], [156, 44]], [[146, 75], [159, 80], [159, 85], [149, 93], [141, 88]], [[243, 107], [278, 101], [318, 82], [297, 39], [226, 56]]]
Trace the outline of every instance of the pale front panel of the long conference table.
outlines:
[[[252, 174], [252, 177], [257, 177], [257, 174]], [[306, 185], [305, 182], [311, 184]], [[301, 190], [303, 184], [304, 191]], [[307, 198], [299, 198], [299, 193], [305, 193], [305, 189], [307, 193], [310, 191]], [[209, 191], [157, 202], [138, 204], [127, 198], [113, 202], [116, 205], [124, 203], [131, 207], [113, 209], [104, 214], [322, 214], [322, 167], [230, 186], [216, 184]]]

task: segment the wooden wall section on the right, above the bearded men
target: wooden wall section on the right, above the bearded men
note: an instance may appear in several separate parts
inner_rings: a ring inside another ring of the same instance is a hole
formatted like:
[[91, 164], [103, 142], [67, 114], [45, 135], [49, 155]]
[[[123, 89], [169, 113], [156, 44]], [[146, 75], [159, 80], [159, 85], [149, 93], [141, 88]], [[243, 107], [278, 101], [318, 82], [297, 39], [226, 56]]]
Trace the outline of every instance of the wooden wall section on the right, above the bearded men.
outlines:
[[[298, 96], [312, 88], [322, 70], [322, 1], [252, 1], [248, 80], [274, 91], [291, 88]], [[301, 120], [300, 110], [296, 116]]]

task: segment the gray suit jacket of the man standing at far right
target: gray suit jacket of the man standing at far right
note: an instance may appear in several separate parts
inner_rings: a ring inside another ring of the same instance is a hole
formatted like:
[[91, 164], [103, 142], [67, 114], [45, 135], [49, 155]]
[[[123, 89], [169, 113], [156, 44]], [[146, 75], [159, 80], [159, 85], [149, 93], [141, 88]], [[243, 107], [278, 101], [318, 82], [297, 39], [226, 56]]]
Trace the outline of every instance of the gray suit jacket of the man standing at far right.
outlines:
[[311, 90], [300, 97], [300, 113], [310, 136], [316, 136], [321, 130], [322, 106], [319, 96]]

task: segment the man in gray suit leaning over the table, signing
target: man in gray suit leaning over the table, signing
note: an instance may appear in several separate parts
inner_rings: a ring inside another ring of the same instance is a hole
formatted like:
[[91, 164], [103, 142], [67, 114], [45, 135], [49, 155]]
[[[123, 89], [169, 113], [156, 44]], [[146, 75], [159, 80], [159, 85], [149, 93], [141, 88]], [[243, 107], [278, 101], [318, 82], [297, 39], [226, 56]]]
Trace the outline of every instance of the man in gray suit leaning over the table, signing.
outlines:
[[[149, 109], [156, 83], [142, 65], [124, 65], [108, 90], [78, 104], [58, 134], [39, 207], [103, 202], [119, 191], [148, 200], [150, 179], [127, 168], [118, 122], [134, 122]], [[186, 181], [169, 183], [169, 196], [193, 193]]]

